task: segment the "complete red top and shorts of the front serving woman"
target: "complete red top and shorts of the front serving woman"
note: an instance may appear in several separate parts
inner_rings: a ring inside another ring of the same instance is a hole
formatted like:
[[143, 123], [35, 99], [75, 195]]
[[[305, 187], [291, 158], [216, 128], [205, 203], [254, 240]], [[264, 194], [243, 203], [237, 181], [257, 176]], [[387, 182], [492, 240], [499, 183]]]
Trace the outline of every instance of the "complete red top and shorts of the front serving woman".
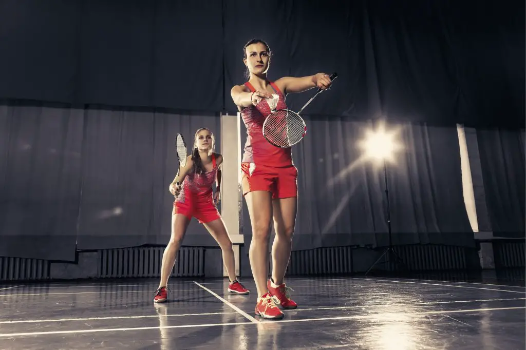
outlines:
[[[256, 89], [247, 81], [250, 91]], [[279, 95], [277, 109], [286, 109], [285, 98], [276, 84], [270, 86]], [[298, 169], [292, 163], [290, 148], [272, 146], [263, 136], [263, 123], [270, 114], [265, 99], [246, 107], [241, 117], [247, 128], [247, 142], [241, 163], [243, 195], [251, 191], [272, 192], [272, 198], [298, 197]]]

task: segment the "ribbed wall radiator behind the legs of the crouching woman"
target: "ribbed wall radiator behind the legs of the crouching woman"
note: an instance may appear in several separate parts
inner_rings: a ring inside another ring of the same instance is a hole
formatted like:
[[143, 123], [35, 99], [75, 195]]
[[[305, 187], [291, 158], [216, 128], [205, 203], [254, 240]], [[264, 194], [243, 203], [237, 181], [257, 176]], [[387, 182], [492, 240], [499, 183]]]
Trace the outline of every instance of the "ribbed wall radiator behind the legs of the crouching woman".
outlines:
[[[163, 261], [163, 247], [136, 247], [98, 251], [98, 277], [159, 277]], [[179, 249], [171, 276], [204, 276], [205, 249]]]

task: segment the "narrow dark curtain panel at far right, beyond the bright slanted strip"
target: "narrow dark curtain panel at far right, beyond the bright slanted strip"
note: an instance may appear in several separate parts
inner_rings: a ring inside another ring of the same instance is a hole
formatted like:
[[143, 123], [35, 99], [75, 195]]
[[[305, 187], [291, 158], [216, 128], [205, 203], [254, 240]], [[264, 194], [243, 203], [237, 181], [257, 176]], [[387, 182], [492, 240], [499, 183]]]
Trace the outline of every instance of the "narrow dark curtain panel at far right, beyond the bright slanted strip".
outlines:
[[524, 237], [524, 130], [477, 129], [493, 235]]

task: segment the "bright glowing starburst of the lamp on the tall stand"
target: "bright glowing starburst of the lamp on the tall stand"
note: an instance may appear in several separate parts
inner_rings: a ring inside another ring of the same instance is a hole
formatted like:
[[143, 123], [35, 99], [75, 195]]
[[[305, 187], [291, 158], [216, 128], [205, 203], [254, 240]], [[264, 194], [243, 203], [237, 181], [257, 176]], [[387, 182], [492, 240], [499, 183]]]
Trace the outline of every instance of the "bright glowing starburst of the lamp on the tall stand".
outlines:
[[376, 131], [367, 130], [364, 140], [358, 142], [371, 159], [393, 161], [393, 154], [401, 147], [395, 137], [398, 130], [387, 131], [385, 123], [380, 123]]

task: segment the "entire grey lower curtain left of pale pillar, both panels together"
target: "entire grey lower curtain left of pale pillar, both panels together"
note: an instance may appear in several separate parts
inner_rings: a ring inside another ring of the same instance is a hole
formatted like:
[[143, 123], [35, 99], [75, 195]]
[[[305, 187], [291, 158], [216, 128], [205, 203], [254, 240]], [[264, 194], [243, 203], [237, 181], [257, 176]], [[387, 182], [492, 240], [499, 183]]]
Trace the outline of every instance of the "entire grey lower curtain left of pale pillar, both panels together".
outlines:
[[[190, 149], [219, 116], [3, 101], [0, 256], [75, 260], [75, 249], [166, 244], [175, 136]], [[216, 245], [196, 220], [184, 245]]]

